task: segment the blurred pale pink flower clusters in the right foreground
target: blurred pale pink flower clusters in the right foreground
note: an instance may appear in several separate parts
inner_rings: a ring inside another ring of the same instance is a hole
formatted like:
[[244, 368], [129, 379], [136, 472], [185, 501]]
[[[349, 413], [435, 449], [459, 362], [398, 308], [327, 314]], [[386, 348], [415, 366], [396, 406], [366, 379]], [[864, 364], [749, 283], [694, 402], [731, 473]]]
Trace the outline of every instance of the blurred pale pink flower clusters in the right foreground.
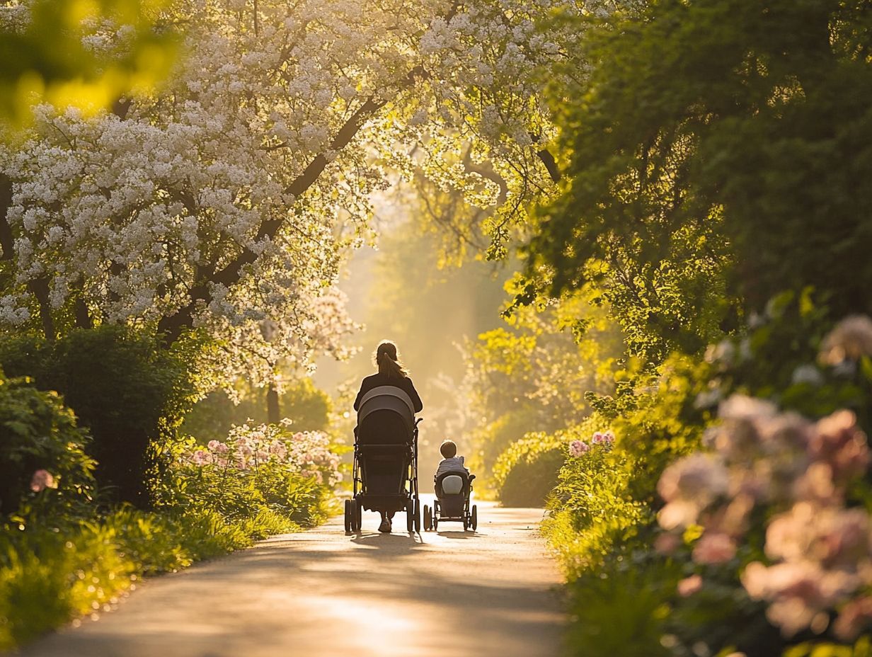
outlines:
[[[822, 633], [839, 610], [836, 636], [855, 639], [872, 621], [872, 527], [849, 492], [869, 467], [855, 414], [813, 422], [734, 395], [719, 415], [723, 423], [706, 436], [713, 452], [664, 471], [659, 524], [680, 532], [698, 526], [691, 551], [698, 565], [726, 564], [748, 542], [759, 558], [746, 565], [742, 585], [766, 600], [767, 618], [786, 636]], [[754, 533], [760, 522], [762, 535]], [[693, 588], [701, 587], [702, 580]]]

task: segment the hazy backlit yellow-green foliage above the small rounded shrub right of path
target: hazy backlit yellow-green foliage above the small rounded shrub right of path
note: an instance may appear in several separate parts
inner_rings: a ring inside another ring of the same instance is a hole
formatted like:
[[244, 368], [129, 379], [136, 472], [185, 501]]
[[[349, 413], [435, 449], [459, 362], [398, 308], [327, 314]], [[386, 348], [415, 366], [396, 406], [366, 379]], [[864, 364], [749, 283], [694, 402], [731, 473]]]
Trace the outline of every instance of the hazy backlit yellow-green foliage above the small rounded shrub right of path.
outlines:
[[589, 394], [614, 391], [623, 351], [620, 332], [591, 305], [589, 291], [516, 308], [507, 321], [467, 346], [473, 467], [485, 474], [525, 434], [551, 434], [582, 421]]

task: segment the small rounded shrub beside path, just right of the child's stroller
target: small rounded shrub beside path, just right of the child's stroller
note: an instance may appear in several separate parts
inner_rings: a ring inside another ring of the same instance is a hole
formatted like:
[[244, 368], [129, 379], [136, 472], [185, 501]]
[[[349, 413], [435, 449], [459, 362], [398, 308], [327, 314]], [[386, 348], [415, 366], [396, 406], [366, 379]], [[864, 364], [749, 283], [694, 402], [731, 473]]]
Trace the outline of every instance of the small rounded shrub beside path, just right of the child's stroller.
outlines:
[[509, 445], [494, 464], [494, 482], [502, 505], [542, 506], [557, 483], [564, 458], [559, 434], [528, 434]]

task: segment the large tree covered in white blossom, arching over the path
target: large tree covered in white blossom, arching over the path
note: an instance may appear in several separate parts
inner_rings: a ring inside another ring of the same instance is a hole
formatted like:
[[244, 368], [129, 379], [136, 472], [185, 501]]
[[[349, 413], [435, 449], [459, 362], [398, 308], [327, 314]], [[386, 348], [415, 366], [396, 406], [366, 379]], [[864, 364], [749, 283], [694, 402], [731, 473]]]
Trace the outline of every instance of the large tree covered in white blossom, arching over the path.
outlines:
[[[258, 349], [270, 320], [304, 340], [338, 227], [362, 230], [416, 149], [441, 184], [502, 202], [499, 242], [555, 176], [533, 72], [560, 56], [535, 25], [556, 4], [181, 3], [164, 88], [94, 118], [38, 106], [0, 154], [0, 320], [50, 338], [130, 321], [167, 343], [243, 327]], [[455, 151], [470, 167], [439, 170]]]

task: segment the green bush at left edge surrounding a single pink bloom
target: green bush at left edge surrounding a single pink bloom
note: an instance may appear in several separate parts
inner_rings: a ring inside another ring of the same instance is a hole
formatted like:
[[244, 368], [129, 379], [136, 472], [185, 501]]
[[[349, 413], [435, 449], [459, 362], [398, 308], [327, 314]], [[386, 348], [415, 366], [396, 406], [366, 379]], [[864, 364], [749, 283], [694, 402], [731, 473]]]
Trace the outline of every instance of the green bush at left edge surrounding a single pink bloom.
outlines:
[[[88, 440], [57, 394], [0, 373], [0, 517], [88, 503], [94, 468], [85, 455]], [[31, 490], [37, 470], [46, 470], [56, 488]]]

